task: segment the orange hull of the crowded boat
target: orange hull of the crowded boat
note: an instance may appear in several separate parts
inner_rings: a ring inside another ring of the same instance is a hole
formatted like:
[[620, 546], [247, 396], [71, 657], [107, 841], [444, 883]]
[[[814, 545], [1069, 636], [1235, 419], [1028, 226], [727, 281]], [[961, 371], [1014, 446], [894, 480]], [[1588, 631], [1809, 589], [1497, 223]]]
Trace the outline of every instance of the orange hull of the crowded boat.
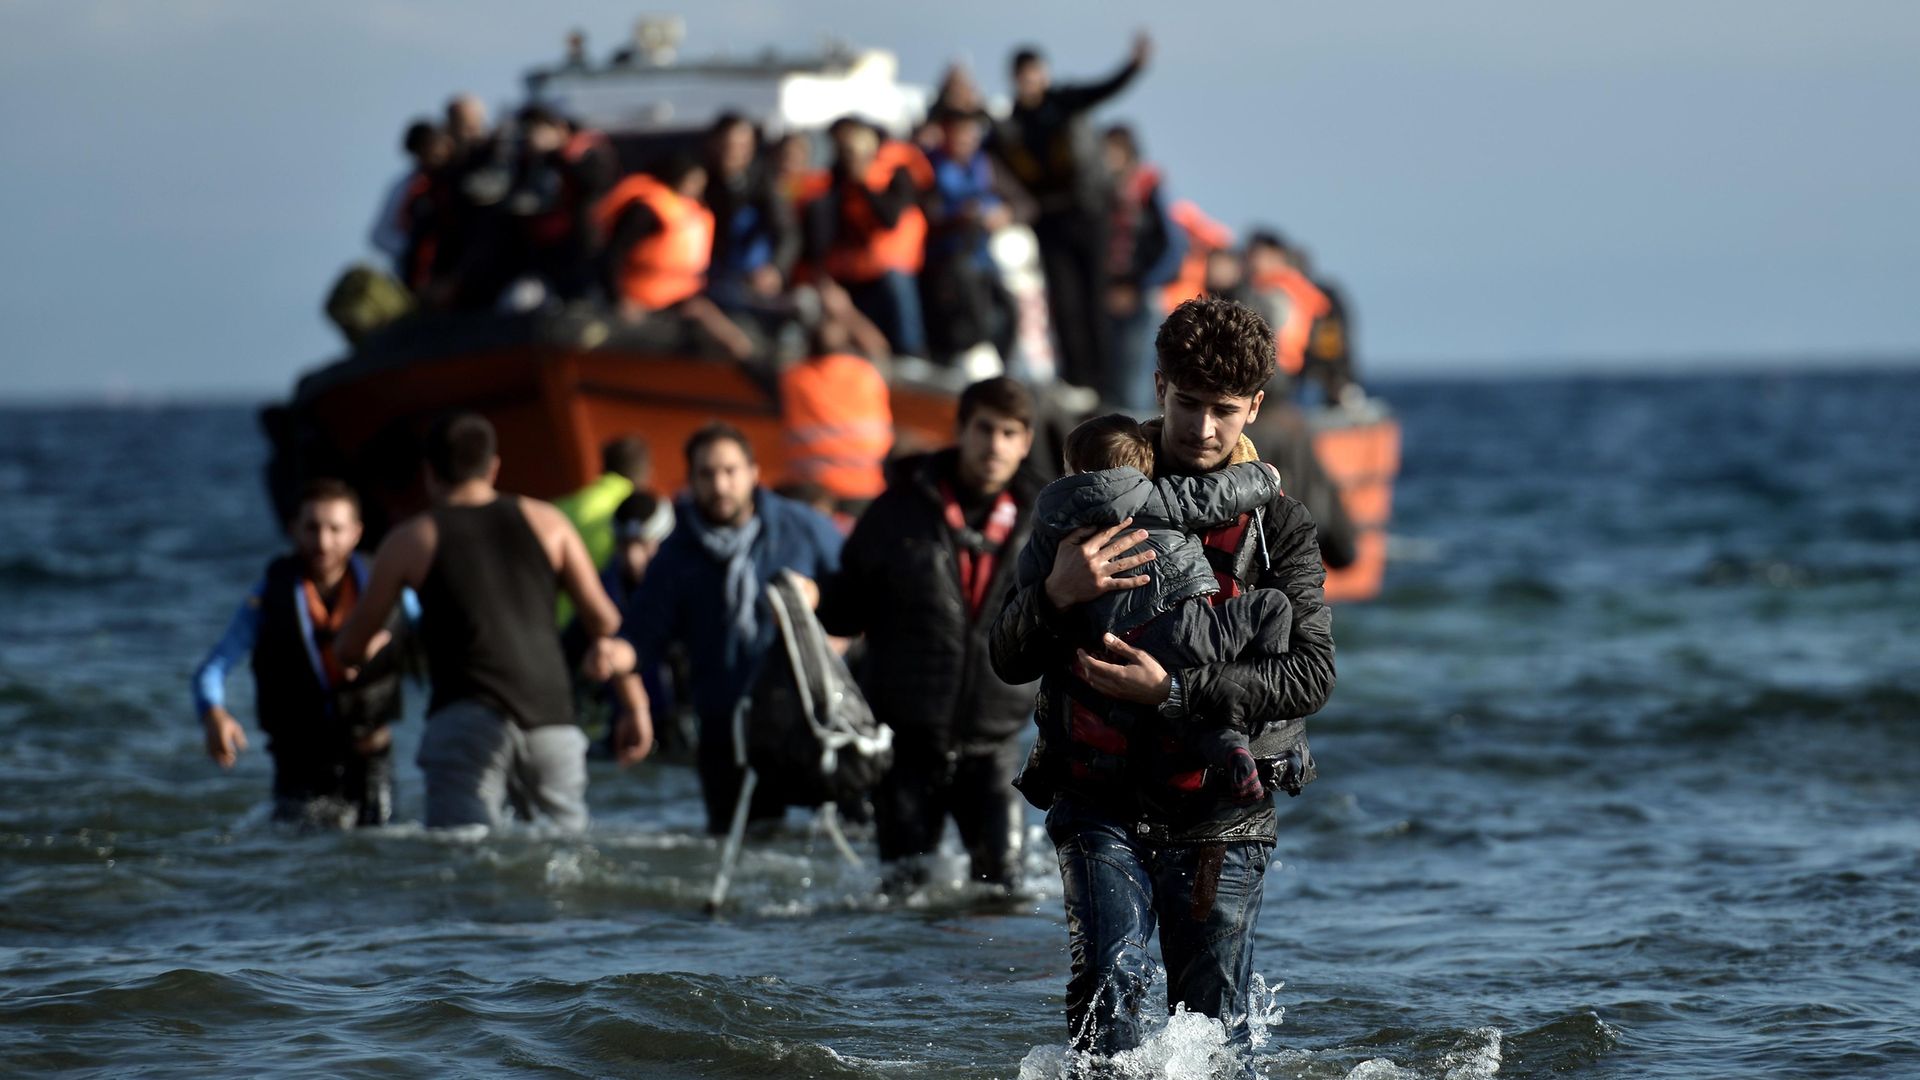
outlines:
[[[478, 332], [476, 332], [478, 331]], [[493, 421], [505, 490], [559, 498], [599, 475], [599, 448], [637, 434], [653, 446], [655, 488], [685, 484], [680, 448], [701, 425], [722, 419], [755, 446], [762, 479], [787, 477], [780, 400], [772, 382], [718, 359], [678, 356], [622, 340], [618, 325], [588, 317], [493, 319], [426, 332], [367, 350], [305, 379], [275, 438], [271, 477], [282, 513], [298, 480], [340, 475], [367, 500], [369, 542], [426, 505], [419, 444], [447, 409]], [[954, 394], [897, 382], [893, 415], [900, 452], [947, 446]], [[1329, 571], [1327, 598], [1371, 600], [1386, 571], [1386, 523], [1400, 471], [1400, 425], [1390, 417], [1325, 427], [1313, 434], [1321, 465], [1357, 527], [1357, 557]]]

